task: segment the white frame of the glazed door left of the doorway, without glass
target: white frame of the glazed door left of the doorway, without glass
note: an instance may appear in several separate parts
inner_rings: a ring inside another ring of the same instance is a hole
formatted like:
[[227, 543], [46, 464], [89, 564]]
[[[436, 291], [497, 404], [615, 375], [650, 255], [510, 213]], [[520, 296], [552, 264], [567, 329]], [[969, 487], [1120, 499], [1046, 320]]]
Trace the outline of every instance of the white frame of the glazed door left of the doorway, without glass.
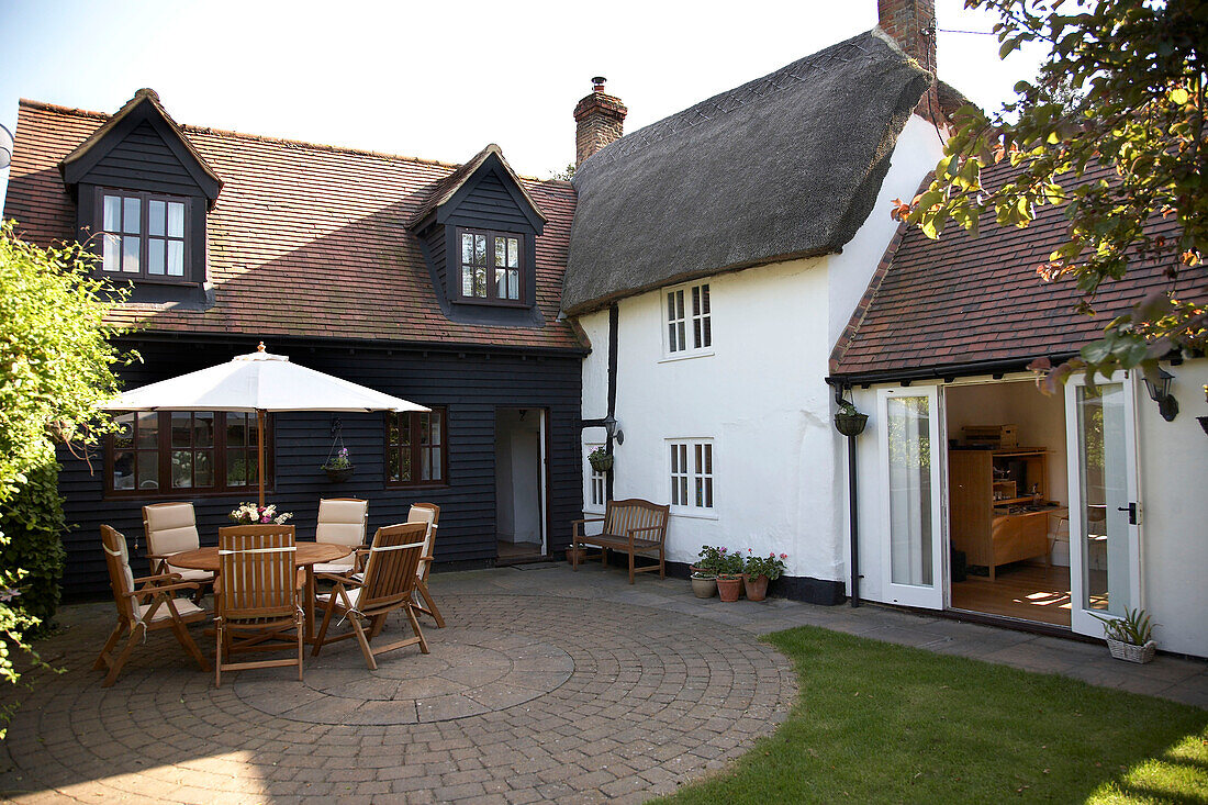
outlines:
[[[893, 539], [890, 505], [893, 492], [890, 488], [889, 474], [889, 400], [901, 398], [924, 398], [928, 406], [928, 442], [930, 447], [931, 469], [931, 583], [924, 584], [895, 584], [893, 580]], [[943, 407], [941, 405], [940, 387], [928, 386], [894, 386], [877, 389], [877, 423], [879, 441], [879, 471], [881, 488], [884, 491], [881, 499], [881, 525], [883, 538], [881, 540], [881, 563], [884, 580], [882, 585], [882, 600], [887, 603], [895, 603], [906, 607], [919, 607], [924, 609], [943, 609], [947, 598], [947, 555], [948, 555], [948, 529], [946, 516], [946, 487], [945, 467], [947, 450], [945, 450], [946, 430], [943, 425]]]

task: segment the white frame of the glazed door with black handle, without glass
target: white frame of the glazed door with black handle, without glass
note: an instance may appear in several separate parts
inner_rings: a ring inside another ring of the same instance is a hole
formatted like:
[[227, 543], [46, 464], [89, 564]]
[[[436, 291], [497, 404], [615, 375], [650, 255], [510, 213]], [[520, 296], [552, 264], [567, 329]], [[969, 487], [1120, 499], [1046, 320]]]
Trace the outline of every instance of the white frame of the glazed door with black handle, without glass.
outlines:
[[[1136, 372], [1133, 372], [1136, 375]], [[1119, 383], [1123, 389], [1123, 428], [1125, 428], [1125, 482], [1127, 486], [1127, 499], [1125, 505], [1132, 505], [1136, 512], [1136, 522], [1128, 525], [1127, 531], [1127, 557], [1128, 557], [1128, 607], [1142, 606], [1142, 581], [1140, 581], [1140, 523], [1142, 504], [1140, 488], [1137, 476], [1137, 389], [1136, 377], [1128, 372], [1116, 372], [1110, 380], [1102, 381], [1098, 386]], [[1067, 467], [1069, 470], [1069, 583], [1070, 583], [1070, 629], [1080, 635], [1102, 637], [1103, 622], [1091, 614], [1091, 610], [1082, 607], [1086, 597], [1085, 579], [1085, 550], [1086, 540], [1084, 534], [1082, 505], [1082, 445], [1079, 435], [1078, 416], [1078, 389], [1085, 388], [1086, 380], [1082, 376], [1071, 377], [1065, 383], [1065, 438], [1067, 438]], [[1120, 506], [1108, 503], [1108, 517], [1125, 517], [1128, 522], [1129, 512], [1117, 510]], [[1109, 590], [1110, 592], [1110, 590]], [[1113, 609], [1117, 609], [1113, 607]], [[1122, 612], [1108, 613], [1096, 610], [1098, 615], [1122, 614]]]

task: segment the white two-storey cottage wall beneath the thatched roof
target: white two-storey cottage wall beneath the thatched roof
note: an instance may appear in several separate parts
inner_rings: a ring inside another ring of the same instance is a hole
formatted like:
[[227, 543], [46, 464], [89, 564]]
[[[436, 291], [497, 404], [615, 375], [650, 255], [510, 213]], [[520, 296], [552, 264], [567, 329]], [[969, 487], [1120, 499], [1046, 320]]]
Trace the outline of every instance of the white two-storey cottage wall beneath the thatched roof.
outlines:
[[[614, 497], [667, 503], [666, 440], [714, 441], [714, 512], [673, 514], [670, 561], [726, 545], [788, 554], [789, 575], [843, 578], [846, 476], [827, 359], [896, 231], [892, 199], [912, 198], [941, 155], [935, 127], [912, 116], [872, 213], [842, 254], [697, 280], [710, 285], [712, 355], [664, 359], [662, 291], [618, 303], [615, 416], [625, 444], [614, 446]], [[592, 342], [583, 418], [599, 418], [608, 413], [608, 311], [580, 324]], [[600, 442], [603, 433], [586, 429], [583, 442]]]

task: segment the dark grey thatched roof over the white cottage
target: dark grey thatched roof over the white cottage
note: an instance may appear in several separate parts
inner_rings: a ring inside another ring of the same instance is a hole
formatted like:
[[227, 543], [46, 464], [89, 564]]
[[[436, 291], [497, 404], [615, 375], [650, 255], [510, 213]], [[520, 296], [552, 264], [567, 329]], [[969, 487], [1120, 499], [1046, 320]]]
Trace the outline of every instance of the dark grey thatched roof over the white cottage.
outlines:
[[563, 311], [838, 251], [930, 81], [873, 29], [603, 149], [575, 173]]

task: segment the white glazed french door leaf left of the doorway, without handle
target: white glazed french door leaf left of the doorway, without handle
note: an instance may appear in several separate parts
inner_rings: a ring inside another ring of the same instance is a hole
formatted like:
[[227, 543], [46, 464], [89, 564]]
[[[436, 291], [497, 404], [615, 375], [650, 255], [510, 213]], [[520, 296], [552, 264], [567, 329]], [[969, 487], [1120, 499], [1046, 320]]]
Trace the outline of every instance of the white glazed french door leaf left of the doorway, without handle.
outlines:
[[939, 388], [877, 392], [883, 600], [943, 608], [943, 433]]

